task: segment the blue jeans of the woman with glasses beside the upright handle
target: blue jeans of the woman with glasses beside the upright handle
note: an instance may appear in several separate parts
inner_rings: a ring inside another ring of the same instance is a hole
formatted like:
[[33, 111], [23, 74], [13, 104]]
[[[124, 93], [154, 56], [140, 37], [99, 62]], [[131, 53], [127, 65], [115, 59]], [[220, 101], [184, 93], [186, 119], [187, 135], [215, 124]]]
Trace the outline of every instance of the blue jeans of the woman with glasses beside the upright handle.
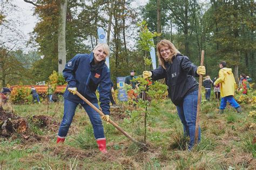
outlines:
[[[188, 93], [181, 104], [177, 107], [178, 115], [183, 124], [183, 131], [185, 136], [190, 137], [188, 149], [194, 146], [194, 134], [196, 132], [197, 120], [197, 100], [198, 90]], [[201, 130], [199, 126], [198, 142], [201, 140]]]

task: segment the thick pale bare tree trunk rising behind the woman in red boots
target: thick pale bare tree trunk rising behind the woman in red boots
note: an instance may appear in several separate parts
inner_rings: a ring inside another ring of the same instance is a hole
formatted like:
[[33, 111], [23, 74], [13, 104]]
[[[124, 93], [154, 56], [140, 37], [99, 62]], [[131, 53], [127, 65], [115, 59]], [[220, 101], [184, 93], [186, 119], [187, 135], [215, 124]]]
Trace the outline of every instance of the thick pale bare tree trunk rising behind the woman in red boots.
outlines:
[[58, 25], [58, 72], [62, 73], [66, 64], [66, 8], [68, 0], [60, 3], [59, 25]]

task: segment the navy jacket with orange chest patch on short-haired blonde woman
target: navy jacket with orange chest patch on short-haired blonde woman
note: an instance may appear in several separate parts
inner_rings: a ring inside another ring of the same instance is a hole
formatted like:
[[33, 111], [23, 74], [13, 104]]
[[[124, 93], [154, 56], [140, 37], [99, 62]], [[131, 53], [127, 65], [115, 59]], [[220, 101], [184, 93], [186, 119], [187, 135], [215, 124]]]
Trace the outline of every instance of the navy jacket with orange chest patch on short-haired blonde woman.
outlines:
[[93, 55], [93, 52], [78, 54], [65, 65], [63, 76], [68, 82], [68, 86], [63, 96], [75, 103], [84, 104], [85, 102], [82, 99], [68, 91], [68, 87], [77, 87], [77, 91], [87, 100], [91, 103], [98, 103], [95, 92], [99, 86], [100, 107], [104, 114], [110, 114], [110, 71], [105, 64], [105, 60], [93, 65]]

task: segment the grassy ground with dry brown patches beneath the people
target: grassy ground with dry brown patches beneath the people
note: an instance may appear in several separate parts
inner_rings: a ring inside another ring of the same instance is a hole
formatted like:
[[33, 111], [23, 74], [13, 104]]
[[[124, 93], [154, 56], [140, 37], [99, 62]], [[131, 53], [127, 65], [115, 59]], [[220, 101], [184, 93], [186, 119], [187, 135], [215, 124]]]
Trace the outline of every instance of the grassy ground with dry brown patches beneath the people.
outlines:
[[[255, 169], [255, 117], [248, 117], [252, 107], [242, 105], [238, 114], [231, 107], [218, 114], [219, 101], [201, 105], [201, 142], [193, 151], [186, 150], [188, 139], [176, 107], [166, 99], [159, 110], [151, 111], [147, 121], [149, 151], [140, 148], [104, 123], [107, 154], [98, 151], [92, 126], [82, 108], [78, 108], [64, 144], [56, 144], [56, 135], [63, 115], [63, 104], [5, 105], [21, 117], [49, 115], [51, 125], [40, 128], [29, 122], [31, 138], [14, 134], [0, 138], [1, 169]], [[150, 110], [151, 108], [149, 108]], [[132, 137], [143, 141], [143, 119], [131, 121], [130, 115], [139, 108], [123, 104], [112, 108], [111, 118]], [[33, 136], [33, 137], [32, 137]]]

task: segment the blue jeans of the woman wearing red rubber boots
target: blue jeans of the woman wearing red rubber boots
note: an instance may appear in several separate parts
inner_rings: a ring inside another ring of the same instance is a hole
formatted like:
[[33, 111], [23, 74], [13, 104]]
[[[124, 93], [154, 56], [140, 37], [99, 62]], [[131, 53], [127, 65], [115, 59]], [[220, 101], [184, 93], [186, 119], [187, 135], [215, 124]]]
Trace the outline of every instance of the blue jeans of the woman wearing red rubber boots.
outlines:
[[[93, 110], [93, 108], [87, 104], [81, 104], [81, 105], [84, 107], [84, 110], [89, 115], [89, 119], [93, 127], [95, 138], [96, 139], [105, 138], [102, 119], [100, 118], [99, 113]], [[97, 103], [93, 105], [99, 108]], [[59, 126], [59, 132], [58, 132], [59, 137], [66, 137], [66, 135], [68, 134], [69, 127], [72, 123], [77, 106], [78, 106], [78, 103], [75, 103], [67, 99], [64, 100], [64, 115], [62, 118], [62, 123]]]

